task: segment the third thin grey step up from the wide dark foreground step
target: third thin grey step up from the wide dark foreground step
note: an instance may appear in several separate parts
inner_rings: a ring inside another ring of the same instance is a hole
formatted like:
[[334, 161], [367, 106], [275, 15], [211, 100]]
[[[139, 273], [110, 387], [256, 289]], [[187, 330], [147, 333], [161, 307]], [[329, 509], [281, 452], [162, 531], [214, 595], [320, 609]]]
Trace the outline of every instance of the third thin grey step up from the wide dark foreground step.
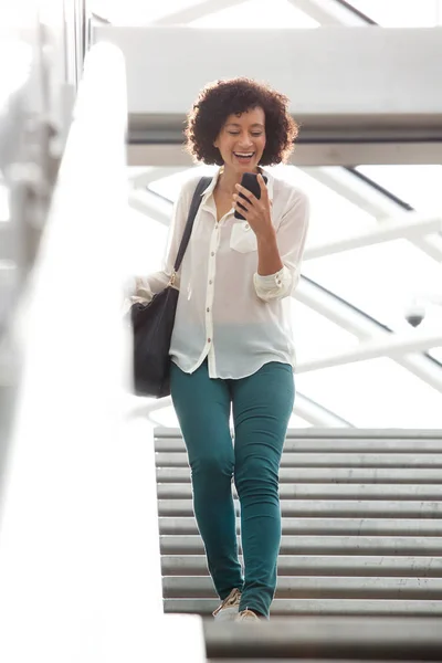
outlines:
[[[164, 576], [209, 573], [204, 555], [164, 555], [161, 569]], [[442, 557], [281, 555], [277, 570], [281, 576], [442, 578]]]

